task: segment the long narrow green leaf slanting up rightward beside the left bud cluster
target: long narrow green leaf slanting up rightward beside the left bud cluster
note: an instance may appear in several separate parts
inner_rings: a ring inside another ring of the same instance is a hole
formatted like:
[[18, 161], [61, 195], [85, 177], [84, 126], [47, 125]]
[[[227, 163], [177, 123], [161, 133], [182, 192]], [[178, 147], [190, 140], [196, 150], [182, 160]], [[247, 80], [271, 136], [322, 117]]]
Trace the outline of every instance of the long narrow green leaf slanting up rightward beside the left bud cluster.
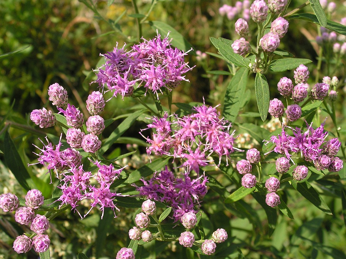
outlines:
[[130, 116], [128, 116], [120, 125], [110, 134], [110, 136], [104, 141], [102, 147], [99, 149], [99, 154], [102, 155], [104, 152], [111, 147], [113, 143], [122, 135], [128, 128], [134, 124], [137, 118], [146, 111], [146, 109], [142, 109], [134, 112]]

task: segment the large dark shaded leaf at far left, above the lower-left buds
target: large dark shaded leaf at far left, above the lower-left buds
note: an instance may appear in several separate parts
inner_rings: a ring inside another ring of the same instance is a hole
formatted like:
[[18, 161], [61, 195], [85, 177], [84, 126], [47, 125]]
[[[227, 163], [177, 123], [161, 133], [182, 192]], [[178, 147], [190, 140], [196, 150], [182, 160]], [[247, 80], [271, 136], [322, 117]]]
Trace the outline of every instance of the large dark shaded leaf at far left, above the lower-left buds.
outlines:
[[20, 155], [17, 151], [15, 143], [11, 140], [8, 132], [5, 133], [4, 137], [4, 161], [8, 168], [12, 171], [13, 175], [17, 179], [18, 183], [25, 189], [30, 190], [29, 180], [30, 175], [27, 171], [26, 166], [23, 164], [23, 161], [20, 158]]

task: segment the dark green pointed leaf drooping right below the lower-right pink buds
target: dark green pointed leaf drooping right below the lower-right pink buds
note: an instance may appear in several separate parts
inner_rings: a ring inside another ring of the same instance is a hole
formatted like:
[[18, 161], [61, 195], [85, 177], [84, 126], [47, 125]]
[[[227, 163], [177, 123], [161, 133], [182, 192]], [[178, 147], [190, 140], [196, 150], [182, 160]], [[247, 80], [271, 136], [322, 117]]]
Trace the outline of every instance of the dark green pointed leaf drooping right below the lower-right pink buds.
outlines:
[[319, 208], [326, 214], [332, 215], [328, 205], [322, 199], [322, 197], [318, 194], [318, 192], [310, 185], [308, 182], [296, 183], [294, 181], [291, 182], [294, 189], [301, 193], [308, 201], [310, 201], [313, 205]]

